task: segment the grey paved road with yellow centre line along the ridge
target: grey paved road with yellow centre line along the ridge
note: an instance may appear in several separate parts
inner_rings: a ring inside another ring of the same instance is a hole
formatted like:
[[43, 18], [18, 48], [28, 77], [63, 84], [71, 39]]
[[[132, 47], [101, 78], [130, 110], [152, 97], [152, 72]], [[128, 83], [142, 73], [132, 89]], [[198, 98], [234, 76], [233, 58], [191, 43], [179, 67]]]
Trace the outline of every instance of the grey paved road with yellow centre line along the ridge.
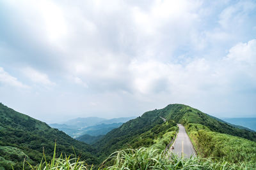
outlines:
[[[185, 131], [185, 128], [182, 124], [179, 125], [179, 133], [177, 134], [177, 138], [173, 143], [174, 149], [171, 150], [173, 153], [177, 153], [179, 156], [183, 155], [186, 158], [195, 156], [195, 152], [193, 150], [193, 145], [188, 137], [188, 134]], [[171, 147], [172, 148], [172, 147]]]

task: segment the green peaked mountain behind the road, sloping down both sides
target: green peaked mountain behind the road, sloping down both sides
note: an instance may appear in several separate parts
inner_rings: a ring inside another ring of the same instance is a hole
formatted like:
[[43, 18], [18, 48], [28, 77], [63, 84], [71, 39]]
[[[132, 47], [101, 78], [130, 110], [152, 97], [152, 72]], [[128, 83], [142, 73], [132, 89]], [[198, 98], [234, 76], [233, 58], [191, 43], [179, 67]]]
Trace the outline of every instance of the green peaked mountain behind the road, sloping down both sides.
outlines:
[[[168, 122], [168, 125], [162, 118]], [[173, 122], [172, 122], [173, 121]], [[173, 131], [176, 123], [200, 124], [212, 132], [230, 134], [241, 138], [256, 141], [256, 133], [239, 129], [218, 118], [211, 117], [202, 111], [196, 110], [184, 104], [169, 104], [161, 110], [147, 111], [141, 117], [129, 120], [117, 129], [108, 132], [104, 138], [93, 144], [98, 148], [101, 159], [115, 150], [132, 146], [150, 146], [162, 138], [168, 131]], [[167, 129], [167, 130], [166, 130]], [[104, 156], [102, 156], [104, 155]]]

